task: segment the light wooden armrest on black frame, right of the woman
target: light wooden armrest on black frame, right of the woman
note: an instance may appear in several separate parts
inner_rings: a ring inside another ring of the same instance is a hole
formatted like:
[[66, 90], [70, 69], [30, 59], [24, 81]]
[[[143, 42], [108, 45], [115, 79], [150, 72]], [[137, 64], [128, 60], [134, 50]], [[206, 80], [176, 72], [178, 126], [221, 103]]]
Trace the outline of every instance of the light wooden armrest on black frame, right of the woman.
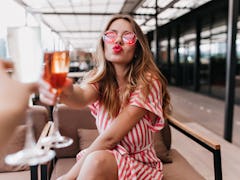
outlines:
[[194, 132], [192, 129], [190, 129], [189, 127], [187, 127], [185, 124], [181, 123], [180, 121], [176, 120], [174, 117], [169, 116], [168, 117], [168, 122], [169, 122], [170, 125], [178, 128], [179, 130], [184, 131], [185, 133], [187, 133], [187, 134], [191, 135], [192, 137], [198, 139], [199, 141], [201, 141], [202, 143], [211, 147], [212, 149], [220, 150], [220, 144], [215, 143], [215, 142], [207, 139], [206, 137], [203, 137], [200, 134]]

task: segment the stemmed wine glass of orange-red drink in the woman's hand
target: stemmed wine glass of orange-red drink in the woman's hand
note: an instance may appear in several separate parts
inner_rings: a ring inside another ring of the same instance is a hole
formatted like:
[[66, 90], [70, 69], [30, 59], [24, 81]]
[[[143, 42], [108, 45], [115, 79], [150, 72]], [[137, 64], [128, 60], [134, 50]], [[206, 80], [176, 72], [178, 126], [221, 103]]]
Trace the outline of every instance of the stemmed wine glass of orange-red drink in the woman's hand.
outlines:
[[[57, 102], [53, 107], [53, 112], [58, 111], [59, 96], [65, 83], [69, 71], [69, 51], [46, 52], [44, 54], [44, 74], [43, 79], [49, 82], [52, 88], [57, 90]], [[53, 148], [64, 148], [70, 146], [73, 140], [62, 136], [59, 132], [59, 120], [57, 113], [53, 113], [54, 130], [52, 135], [43, 138], [42, 144]]]

